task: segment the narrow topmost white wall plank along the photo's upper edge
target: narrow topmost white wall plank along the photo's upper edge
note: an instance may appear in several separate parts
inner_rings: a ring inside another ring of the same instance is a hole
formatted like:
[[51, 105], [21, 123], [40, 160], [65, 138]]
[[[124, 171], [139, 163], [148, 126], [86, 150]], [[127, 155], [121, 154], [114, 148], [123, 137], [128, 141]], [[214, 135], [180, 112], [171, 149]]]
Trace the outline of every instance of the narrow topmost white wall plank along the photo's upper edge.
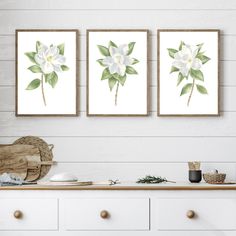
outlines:
[[[56, 2], [55, 2], [56, 1]], [[112, 4], [110, 4], [109, 0], [87, 0], [81, 1], [78, 0], [8, 0], [0, 2], [0, 9], [87, 9], [87, 10], [99, 10], [99, 9], [115, 9], [115, 10], [145, 10], [145, 9], [220, 9], [220, 10], [232, 10], [236, 9], [236, 3], [234, 0], [214, 0], [214, 4], [212, 1], [206, 0], [198, 0], [198, 1], [189, 1], [189, 0], [178, 0], [178, 1], [158, 1], [156, 0], [148, 0], [145, 1], [137, 1], [137, 0], [113, 0]]]

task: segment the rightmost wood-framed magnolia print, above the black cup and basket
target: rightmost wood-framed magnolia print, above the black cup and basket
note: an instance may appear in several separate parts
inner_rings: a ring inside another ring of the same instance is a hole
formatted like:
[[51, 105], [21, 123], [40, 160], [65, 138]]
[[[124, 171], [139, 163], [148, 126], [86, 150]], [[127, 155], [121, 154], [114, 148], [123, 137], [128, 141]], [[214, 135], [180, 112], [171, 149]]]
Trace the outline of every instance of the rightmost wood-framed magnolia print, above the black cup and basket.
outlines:
[[219, 115], [219, 30], [158, 30], [158, 115]]

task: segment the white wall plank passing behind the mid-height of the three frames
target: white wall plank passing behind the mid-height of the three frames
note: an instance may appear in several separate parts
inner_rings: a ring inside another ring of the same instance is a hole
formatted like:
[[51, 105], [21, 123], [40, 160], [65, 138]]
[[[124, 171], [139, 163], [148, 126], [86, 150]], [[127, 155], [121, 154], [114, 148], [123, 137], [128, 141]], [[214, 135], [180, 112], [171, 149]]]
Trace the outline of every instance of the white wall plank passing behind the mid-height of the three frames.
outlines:
[[[150, 85], [157, 85], [157, 62], [150, 61]], [[86, 62], [79, 62], [79, 83], [86, 86]], [[232, 71], [236, 68], [236, 61], [222, 61], [220, 66], [220, 84], [224, 86], [236, 86], [236, 79]], [[15, 85], [15, 62], [0, 62], [0, 86]]]

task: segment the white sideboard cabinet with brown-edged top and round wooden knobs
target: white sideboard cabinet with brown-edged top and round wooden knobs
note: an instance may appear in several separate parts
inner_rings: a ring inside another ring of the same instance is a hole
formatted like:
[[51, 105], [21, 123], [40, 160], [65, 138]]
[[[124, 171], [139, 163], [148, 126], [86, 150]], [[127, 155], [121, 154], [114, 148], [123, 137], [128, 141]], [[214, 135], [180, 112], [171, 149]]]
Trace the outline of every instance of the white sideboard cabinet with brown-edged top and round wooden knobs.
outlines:
[[235, 236], [236, 186], [0, 187], [1, 236]]

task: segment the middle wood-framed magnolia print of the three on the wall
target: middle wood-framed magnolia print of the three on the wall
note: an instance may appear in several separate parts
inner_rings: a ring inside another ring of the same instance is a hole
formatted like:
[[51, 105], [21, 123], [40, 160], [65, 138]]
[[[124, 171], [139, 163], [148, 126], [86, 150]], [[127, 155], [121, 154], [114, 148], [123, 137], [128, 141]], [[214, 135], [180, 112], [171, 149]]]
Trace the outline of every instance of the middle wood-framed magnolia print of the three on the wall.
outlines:
[[87, 115], [148, 115], [148, 30], [87, 30]]

